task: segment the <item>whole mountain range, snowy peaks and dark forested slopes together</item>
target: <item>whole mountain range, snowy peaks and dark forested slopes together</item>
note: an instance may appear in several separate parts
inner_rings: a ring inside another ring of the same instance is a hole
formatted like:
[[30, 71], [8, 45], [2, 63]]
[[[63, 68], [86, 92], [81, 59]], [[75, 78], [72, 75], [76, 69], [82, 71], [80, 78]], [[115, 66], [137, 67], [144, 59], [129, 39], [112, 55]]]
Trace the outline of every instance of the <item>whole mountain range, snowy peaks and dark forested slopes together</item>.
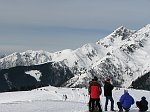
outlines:
[[[0, 59], [0, 91], [12, 89], [17, 81], [23, 84], [18, 83], [17, 87], [28, 86], [28, 81], [32, 82], [30, 86], [85, 87], [94, 75], [102, 84], [109, 77], [118, 87], [150, 90], [150, 83], [146, 83], [146, 87], [137, 85], [140, 79], [144, 80], [143, 77], [147, 77], [145, 80], [150, 82], [149, 45], [148, 24], [137, 31], [121, 26], [95, 44], [89, 43], [76, 50], [13, 53]], [[43, 66], [46, 68], [44, 71]]]

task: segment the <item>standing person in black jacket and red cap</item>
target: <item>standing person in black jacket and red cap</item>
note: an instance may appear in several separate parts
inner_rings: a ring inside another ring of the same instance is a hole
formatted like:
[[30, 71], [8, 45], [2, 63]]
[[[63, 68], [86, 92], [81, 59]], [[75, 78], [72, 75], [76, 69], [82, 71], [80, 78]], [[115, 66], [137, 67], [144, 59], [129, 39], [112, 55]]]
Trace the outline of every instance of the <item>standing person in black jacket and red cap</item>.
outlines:
[[106, 97], [105, 111], [107, 111], [108, 101], [111, 101], [111, 111], [114, 111], [114, 100], [112, 97], [112, 90], [114, 86], [110, 83], [110, 79], [107, 79], [104, 84], [104, 96]]

